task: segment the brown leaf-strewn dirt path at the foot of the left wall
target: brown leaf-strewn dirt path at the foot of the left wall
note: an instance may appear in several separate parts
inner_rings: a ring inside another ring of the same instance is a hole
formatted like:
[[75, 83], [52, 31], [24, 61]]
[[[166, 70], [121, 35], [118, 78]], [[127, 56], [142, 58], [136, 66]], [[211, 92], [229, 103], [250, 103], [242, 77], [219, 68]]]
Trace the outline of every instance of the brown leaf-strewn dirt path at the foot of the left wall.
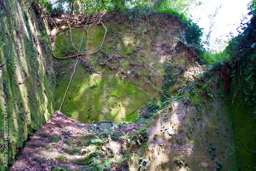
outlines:
[[[76, 160], [84, 157], [81, 154], [84, 146], [91, 144], [95, 136], [104, 131], [132, 133], [138, 130], [143, 122], [118, 124], [110, 122], [82, 123], [55, 111], [52, 118], [41, 127], [17, 158], [12, 171], [17, 170], [91, 170]], [[116, 141], [120, 147], [121, 142]], [[62, 168], [66, 167], [66, 168]]]

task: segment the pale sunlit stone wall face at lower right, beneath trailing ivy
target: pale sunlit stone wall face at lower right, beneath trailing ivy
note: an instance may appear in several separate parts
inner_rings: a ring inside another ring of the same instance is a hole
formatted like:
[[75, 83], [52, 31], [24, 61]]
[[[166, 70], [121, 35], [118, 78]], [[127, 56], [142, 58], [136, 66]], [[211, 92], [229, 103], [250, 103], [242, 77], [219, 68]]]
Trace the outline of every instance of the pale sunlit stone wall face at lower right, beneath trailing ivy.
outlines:
[[195, 110], [174, 101], [147, 123], [150, 170], [236, 169], [232, 127], [218, 101], [217, 109], [193, 119]]

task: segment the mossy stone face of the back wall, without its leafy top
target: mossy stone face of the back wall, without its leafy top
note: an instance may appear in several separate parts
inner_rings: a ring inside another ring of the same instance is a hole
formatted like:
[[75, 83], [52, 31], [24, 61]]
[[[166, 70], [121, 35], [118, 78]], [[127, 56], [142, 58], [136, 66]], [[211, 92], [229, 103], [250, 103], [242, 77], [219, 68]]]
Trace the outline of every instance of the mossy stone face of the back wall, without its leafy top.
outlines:
[[[144, 22], [104, 22], [107, 32], [103, 46], [95, 54], [79, 56], [61, 107], [63, 113], [83, 122], [132, 121], [138, 118], [139, 109], [146, 103], [160, 99], [163, 62], [166, 51], [169, 52], [178, 41], [175, 38], [179, 37], [178, 22], [170, 19], [165, 24], [159, 22], [156, 27], [151, 21], [150, 24], [146, 20], [141, 21]], [[72, 28], [71, 32], [77, 49], [84, 34], [80, 49], [86, 49], [87, 34], [83, 33], [83, 28]], [[88, 32], [90, 53], [100, 47], [105, 28], [94, 24]], [[74, 53], [75, 48], [70, 42], [69, 29], [58, 34], [55, 55], [65, 57]], [[165, 45], [168, 46], [166, 49]], [[55, 60], [57, 109], [62, 103], [75, 63], [76, 58]]]

